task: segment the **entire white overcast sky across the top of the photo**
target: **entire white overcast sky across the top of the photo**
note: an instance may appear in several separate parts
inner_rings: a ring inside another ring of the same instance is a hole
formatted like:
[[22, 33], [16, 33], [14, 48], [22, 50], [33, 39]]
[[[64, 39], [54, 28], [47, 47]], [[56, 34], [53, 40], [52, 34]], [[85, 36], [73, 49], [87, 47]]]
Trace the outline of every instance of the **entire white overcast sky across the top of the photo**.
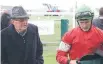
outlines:
[[0, 5], [16, 6], [22, 5], [27, 9], [40, 9], [43, 7], [43, 3], [57, 5], [59, 8], [68, 10], [77, 5], [87, 4], [92, 8], [100, 8], [103, 6], [103, 0], [0, 0]]

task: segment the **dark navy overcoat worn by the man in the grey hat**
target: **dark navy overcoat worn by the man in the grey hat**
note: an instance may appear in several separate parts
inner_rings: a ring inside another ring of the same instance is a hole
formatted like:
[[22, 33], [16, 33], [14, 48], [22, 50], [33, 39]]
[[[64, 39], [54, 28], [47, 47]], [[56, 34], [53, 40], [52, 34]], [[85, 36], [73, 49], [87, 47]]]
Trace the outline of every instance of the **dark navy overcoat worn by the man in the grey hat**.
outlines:
[[38, 28], [28, 24], [27, 33], [21, 36], [13, 25], [1, 31], [1, 61], [3, 64], [43, 64], [43, 46]]

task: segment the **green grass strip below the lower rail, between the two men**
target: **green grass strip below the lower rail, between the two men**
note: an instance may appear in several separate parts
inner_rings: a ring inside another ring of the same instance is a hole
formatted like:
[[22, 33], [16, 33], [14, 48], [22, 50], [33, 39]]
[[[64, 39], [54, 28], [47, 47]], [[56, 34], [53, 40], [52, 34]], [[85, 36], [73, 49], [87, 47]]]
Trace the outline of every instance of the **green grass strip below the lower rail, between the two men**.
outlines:
[[58, 46], [44, 46], [44, 64], [57, 64], [56, 49]]

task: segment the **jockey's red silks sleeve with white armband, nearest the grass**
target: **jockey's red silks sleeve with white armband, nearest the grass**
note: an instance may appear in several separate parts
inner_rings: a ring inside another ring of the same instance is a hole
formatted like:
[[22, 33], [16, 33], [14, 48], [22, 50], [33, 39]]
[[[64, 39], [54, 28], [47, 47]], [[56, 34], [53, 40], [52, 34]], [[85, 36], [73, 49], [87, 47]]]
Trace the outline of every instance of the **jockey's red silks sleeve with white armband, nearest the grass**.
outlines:
[[68, 64], [69, 50], [73, 40], [73, 31], [64, 34], [56, 54], [56, 60], [59, 64]]

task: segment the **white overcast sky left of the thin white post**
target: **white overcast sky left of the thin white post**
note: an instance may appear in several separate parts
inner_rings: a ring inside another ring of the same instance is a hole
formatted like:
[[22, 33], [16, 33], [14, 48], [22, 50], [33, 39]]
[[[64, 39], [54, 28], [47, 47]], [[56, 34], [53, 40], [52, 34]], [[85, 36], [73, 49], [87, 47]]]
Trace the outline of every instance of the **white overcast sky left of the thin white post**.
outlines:
[[57, 5], [60, 8], [68, 9], [73, 6], [73, 0], [69, 3], [69, 0], [1, 0], [0, 5], [22, 5], [27, 9], [40, 9], [43, 3]]

